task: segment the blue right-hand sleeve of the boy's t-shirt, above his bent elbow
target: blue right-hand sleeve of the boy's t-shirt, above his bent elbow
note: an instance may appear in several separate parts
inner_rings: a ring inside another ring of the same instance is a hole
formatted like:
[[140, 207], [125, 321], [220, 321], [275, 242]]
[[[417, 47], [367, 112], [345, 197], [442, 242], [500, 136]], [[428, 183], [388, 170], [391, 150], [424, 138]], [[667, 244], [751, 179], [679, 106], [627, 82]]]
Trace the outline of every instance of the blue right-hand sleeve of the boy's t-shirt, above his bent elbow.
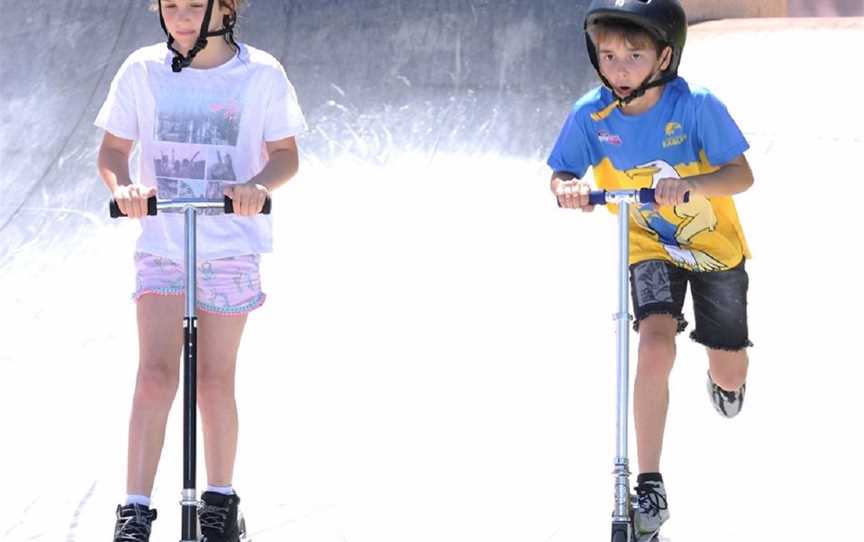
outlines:
[[699, 145], [712, 165], [727, 164], [750, 148], [726, 106], [713, 94], [705, 95], [696, 114]]

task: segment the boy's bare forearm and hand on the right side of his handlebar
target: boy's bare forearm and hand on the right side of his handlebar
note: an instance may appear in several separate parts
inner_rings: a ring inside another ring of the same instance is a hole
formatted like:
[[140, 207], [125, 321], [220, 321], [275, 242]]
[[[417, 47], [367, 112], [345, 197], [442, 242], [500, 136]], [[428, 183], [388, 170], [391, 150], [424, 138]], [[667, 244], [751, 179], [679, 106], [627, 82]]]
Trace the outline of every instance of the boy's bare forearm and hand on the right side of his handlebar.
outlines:
[[753, 186], [753, 172], [743, 154], [731, 162], [723, 164], [713, 173], [693, 175], [684, 179], [660, 179], [657, 181], [657, 203], [660, 205], [678, 205], [684, 203], [684, 194], [693, 195], [732, 196], [744, 192]]

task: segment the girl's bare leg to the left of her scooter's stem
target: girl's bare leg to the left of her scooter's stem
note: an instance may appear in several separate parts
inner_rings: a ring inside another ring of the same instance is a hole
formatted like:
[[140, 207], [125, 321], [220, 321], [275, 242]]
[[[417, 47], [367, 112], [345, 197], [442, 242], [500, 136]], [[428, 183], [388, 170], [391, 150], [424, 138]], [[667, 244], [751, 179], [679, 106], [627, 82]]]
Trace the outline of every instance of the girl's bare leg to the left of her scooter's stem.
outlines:
[[139, 361], [129, 420], [126, 492], [149, 496], [165, 441], [168, 412], [177, 394], [183, 296], [142, 296], [137, 313]]

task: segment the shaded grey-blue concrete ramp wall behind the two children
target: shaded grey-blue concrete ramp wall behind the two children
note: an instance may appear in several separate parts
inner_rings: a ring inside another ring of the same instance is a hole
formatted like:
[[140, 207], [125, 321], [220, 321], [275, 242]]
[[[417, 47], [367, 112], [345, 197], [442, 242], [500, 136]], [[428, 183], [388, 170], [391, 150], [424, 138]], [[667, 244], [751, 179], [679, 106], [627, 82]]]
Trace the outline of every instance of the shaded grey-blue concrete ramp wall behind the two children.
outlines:
[[[539, 156], [593, 84], [586, 0], [258, 0], [239, 37], [286, 66], [307, 114], [305, 160], [394, 153]], [[103, 222], [92, 121], [135, 48], [163, 39], [141, 0], [28, 0], [0, 36], [0, 267]], [[73, 236], [73, 237], [70, 237]]]

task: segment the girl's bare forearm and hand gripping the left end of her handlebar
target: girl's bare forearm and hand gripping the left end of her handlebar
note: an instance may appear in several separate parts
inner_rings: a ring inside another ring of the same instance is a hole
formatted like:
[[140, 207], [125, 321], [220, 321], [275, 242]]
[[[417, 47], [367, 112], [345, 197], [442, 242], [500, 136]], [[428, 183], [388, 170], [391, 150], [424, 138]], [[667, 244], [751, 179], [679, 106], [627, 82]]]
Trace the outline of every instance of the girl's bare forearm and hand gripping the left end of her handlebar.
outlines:
[[156, 194], [153, 187], [132, 184], [129, 155], [134, 141], [105, 132], [96, 165], [102, 182], [117, 201], [120, 212], [130, 218], [147, 215], [147, 198]]

